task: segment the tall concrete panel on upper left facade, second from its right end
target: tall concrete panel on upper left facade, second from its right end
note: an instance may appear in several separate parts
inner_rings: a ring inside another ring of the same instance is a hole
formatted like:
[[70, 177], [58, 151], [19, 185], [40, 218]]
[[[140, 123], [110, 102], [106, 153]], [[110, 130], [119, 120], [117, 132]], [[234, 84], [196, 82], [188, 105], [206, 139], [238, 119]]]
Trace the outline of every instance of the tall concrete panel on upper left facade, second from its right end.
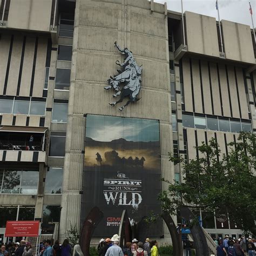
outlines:
[[26, 37], [26, 45], [23, 60], [21, 87], [19, 90], [19, 96], [29, 96], [32, 68], [33, 68], [33, 58], [35, 53], [35, 42], [36, 38], [32, 36]]

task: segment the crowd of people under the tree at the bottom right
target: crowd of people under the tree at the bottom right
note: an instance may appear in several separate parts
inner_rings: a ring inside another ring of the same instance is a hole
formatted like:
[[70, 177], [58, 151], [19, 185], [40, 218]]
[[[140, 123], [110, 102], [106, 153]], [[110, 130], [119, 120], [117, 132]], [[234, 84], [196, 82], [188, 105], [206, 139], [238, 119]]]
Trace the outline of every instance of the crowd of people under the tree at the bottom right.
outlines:
[[217, 256], [255, 256], [256, 240], [251, 237], [232, 239], [226, 237], [224, 240], [214, 239], [217, 246]]

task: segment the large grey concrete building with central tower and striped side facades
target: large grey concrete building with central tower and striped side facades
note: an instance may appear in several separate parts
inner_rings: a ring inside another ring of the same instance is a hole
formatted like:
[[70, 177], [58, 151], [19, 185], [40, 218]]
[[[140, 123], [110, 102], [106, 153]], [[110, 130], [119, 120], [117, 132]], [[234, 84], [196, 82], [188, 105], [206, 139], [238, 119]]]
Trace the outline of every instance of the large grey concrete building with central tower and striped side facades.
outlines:
[[[256, 131], [250, 26], [221, 21], [222, 52], [215, 18], [186, 11], [184, 41], [181, 14], [153, 1], [0, 0], [0, 19], [2, 241], [6, 220], [40, 220], [60, 240], [80, 226], [87, 114], [159, 120], [161, 176], [180, 182], [169, 152], [196, 158], [212, 137], [226, 152]], [[104, 90], [122, 61], [116, 41], [143, 65], [141, 99], [122, 112]], [[203, 225], [242, 233], [214, 216]]]

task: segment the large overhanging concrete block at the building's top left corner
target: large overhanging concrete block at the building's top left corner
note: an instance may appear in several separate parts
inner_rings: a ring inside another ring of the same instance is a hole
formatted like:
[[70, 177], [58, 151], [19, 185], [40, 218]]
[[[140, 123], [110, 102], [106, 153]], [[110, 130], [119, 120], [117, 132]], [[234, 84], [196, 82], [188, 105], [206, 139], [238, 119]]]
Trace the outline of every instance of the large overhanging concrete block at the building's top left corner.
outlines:
[[50, 31], [52, 0], [12, 0], [6, 26], [13, 29]]

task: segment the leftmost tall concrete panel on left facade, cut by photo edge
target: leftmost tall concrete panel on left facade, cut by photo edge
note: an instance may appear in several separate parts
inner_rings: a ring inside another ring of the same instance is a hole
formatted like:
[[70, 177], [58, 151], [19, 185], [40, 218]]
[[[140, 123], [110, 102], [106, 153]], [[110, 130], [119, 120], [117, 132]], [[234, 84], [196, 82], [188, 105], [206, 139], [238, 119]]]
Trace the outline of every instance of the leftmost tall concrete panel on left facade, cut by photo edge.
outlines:
[[3, 94], [4, 90], [4, 80], [5, 80], [5, 74], [7, 69], [7, 63], [8, 63], [8, 56], [9, 56], [9, 50], [10, 50], [10, 42], [11, 42], [11, 36], [2, 34], [1, 40], [0, 40], [0, 94]]

